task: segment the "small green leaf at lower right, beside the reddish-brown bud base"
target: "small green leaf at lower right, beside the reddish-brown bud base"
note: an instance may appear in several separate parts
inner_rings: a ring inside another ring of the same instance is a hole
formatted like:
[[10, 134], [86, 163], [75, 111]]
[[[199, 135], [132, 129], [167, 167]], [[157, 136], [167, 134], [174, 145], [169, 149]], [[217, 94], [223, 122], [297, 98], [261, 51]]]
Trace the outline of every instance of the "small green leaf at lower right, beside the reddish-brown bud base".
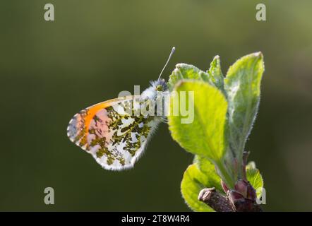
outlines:
[[263, 188], [263, 177], [261, 176], [259, 169], [256, 169], [254, 162], [249, 162], [246, 166], [246, 177], [248, 182], [251, 183], [251, 186], [256, 189], [257, 197], [260, 198]]

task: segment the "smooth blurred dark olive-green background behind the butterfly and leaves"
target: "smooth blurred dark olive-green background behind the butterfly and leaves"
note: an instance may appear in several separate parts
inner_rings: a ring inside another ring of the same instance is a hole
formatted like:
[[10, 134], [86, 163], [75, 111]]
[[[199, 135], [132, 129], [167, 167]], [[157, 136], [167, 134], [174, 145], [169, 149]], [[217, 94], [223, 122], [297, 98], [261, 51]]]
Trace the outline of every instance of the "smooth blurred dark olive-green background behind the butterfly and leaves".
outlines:
[[[44, 20], [54, 4], [55, 20]], [[257, 21], [264, 3], [267, 20]], [[101, 169], [66, 136], [80, 109], [164, 71], [222, 70], [265, 57], [247, 150], [265, 179], [265, 210], [312, 210], [312, 1], [1, 1], [0, 210], [188, 211], [180, 194], [192, 155], [162, 124], [136, 167]], [[44, 188], [52, 186], [55, 205]]]

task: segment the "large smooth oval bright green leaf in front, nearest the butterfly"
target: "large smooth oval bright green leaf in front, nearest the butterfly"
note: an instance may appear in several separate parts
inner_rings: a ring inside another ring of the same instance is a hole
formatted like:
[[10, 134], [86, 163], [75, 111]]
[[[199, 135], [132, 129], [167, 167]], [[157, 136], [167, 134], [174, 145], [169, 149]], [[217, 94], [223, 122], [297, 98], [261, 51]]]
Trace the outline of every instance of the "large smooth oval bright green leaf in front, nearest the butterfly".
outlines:
[[[220, 161], [226, 147], [224, 124], [227, 100], [224, 95], [217, 88], [200, 81], [181, 81], [174, 91], [168, 117], [172, 138], [190, 153]], [[193, 92], [193, 100], [191, 93], [186, 98], [179, 98], [183, 91]], [[179, 115], [174, 116], [176, 106], [179, 107]], [[182, 123], [186, 117], [181, 115], [181, 106], [189, 106], [189, 114], [193, 114], [191, 123]]]

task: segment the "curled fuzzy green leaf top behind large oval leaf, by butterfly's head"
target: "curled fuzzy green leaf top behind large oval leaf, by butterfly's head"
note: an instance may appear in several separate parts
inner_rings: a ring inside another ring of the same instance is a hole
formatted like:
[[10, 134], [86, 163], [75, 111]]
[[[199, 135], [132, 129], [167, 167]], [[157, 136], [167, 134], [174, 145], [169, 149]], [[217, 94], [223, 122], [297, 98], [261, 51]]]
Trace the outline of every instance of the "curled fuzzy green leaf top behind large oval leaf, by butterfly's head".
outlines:
[[209, 74], [205, 71], [201, 71], [191, 64], [176, 64], [176, 69], [172, 71], [169, 77], [168, 87], [172, 91], [174, 85], [183, 79], [194, 79], [199, 81], [209, 81]]

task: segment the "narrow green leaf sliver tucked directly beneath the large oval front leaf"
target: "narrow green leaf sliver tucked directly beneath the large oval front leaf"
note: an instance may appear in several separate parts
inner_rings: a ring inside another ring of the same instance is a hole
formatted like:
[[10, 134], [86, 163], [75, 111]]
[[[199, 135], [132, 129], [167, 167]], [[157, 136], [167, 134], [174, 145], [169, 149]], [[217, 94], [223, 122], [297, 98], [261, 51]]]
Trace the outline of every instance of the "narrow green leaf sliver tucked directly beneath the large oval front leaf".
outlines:
[[215, 165], [213, 165], [213, 163], [207, 158], [200, 157], [198, 155], [195, 155], [194, 163], [197, 165], [198, 169], [203, 172], [203, 174], [208, 175], [210, 187], [215, 187], [218, 191], [223, 192], [221, 179], [215, 171]]

